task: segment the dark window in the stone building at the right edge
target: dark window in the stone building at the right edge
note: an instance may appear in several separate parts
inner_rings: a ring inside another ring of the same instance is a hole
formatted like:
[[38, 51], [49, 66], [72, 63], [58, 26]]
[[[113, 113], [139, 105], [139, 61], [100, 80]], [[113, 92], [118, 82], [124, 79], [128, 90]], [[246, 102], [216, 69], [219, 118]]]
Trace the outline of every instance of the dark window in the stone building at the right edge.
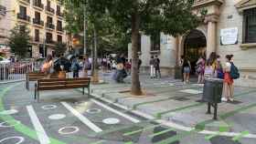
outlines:
[[243, 43], [256, 43], [256, 8], [244, 11]]

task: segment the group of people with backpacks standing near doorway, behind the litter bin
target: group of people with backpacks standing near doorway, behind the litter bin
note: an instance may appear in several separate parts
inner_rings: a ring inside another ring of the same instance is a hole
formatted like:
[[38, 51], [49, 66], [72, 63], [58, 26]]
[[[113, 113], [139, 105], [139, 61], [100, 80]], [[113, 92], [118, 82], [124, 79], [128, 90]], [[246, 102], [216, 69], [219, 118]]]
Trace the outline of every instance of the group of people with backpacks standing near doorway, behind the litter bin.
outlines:
[[[199, 57], [197, 60], [197, 66], [195, 67], [198, 76], [197, 83], [204, 83], [208, 78], [220, 78], [223, 79], [223, 98], [222, 101], [233, 101], [234, 93], [234, 79], [240, 77], [238, 68], [233, 63], [233, 55], [227, 55], [226, 62], [222, 65], [220, 56], [215, 52], [211, 53], [208, 59], [205, 57]], [[181, 57], [181, 67], [183, 73], [184, 83], [189, 82], [191, 73], [191, 64], [187, 57]]]

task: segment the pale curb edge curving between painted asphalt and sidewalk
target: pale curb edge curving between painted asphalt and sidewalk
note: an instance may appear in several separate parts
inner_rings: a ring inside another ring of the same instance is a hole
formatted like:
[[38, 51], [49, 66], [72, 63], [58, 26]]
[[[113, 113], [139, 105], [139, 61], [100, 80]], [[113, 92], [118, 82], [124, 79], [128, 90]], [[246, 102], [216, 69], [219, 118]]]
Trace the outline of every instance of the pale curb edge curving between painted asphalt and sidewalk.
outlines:
[[[93, 91], [93, 89], [91, 89], [91, 91]], [[100, 95], [95, 94], [95, 93], [91, 93], [91, 97], [99, 98], [104, 102], [110, 103], [110, 104], [112, 104], [112, 105], [114, 105], [118, 108], [123, 108], [125, 110], [129, 110], [133, 114], [139, 115], [139, 116], [147, 118], [149, 120], [154, 120], [156, 123], [165, 125], [166, 127], [171, 127], [171, 128], [174, 128], [174, 129], [179, 129], [179, 130], [183, 130], [183, 131], [187, 131], [187, 132], [192, 132], [193, 130], [195, 130], [195, 128], [183, 126], [183, 125], [177, 124], [176, 122], [171, 121], [171, 120], [166, 120], [166, 119], [163, 119], [163, 118], [162, 119], [155, 118], [154, 116], [146, 114], [143, 111], [135, 110], [133, 108], [129, 108], [127, 106], [121, 105], [121, 104], [119, 104], [117, 102], [114, 102], [112, 100], [109, 100], [107, 98], [102, 98]], [[240, 133], [238, 133], [238, 132], [222, 132], [222, 133], [219, 133], [219, 131], [213, 131], [213, 130], [208, 130], [208, 129], [203, 129], [201, 131], [198, 131], [197, 133], [204, 134], [204, 135], [226, 136], [226, 137], [231, 137], [231, 138], [240, 136]], [[248, 135], [243, 136], [242, 138], [256, 139], [256, 134], [248, 134]]]

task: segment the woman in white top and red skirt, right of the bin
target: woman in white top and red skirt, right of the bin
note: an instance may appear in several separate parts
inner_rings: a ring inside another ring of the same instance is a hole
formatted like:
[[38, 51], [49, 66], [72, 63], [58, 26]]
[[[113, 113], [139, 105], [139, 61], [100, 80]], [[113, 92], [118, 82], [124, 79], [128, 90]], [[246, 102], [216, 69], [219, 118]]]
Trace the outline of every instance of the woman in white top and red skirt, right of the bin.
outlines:
[[234, 80], [233, 77], [231, 77], [232, 73], [232, 57], [233, 55], [227, 55], [226, 56], [226, 64], [223, 67], [224, 71], [224, 81], [223, 81], [223, 98], [221, 98], [222, 101], [233, 101], [233, 94], [234, 94]]

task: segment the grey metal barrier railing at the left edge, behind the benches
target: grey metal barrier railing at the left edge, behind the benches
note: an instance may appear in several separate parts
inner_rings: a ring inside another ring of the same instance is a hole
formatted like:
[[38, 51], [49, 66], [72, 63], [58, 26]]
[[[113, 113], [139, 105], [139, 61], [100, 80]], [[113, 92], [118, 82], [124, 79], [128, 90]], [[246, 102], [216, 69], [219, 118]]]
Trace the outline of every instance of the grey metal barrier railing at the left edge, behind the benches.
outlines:
[[23, 80], [35, 66], [33, 62], [0, 63], [0, 81]]

